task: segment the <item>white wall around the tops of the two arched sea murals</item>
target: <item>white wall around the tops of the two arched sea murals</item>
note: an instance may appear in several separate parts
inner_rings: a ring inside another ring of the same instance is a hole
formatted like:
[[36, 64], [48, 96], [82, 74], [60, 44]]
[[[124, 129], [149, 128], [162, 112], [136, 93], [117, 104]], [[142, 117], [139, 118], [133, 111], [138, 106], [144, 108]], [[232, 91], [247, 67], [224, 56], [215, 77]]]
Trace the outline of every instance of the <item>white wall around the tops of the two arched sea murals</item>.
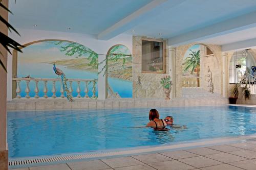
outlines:
[[[21, 36], [17, 34], [9, 33], [9, 36], [16, 40], [18, 43], [24, 45], [33, 41], [38, 40], [68, 40], [80, 43], [86, 47], [89, 47], [91, 50], [96, 52], [97, 54], [106, 54], [109, 49], [116, 44], [122, 44], [129, 48], [132, 53], [132, 42], [133, 36], [128, 34], [120, 34], [110, 40], [98, 40], [96, 35], [87, 35], [87, 34], [76, 34], [76, 33], [68, 33], [68, 32], [55, 32], [55, 31], [42, 31], [42, 30], [28, 30], [28, 29], [17, 29]], [[99, 55], [99, 60], [102, 60], [104, 55]], [[10, 101], [12, 99], [12, 60], [11, 57], [8, 59], [8, 80], [7, 86], [9, 87], [7, 90], [7, 100]], [[100, 78], [100, 75], [99, 75]], [[101, 88], [101, 87], [99, 87]], [[104, 87], [102, 87], [104, 88]], [[99, 89], [100, 90], [100, 89]]]

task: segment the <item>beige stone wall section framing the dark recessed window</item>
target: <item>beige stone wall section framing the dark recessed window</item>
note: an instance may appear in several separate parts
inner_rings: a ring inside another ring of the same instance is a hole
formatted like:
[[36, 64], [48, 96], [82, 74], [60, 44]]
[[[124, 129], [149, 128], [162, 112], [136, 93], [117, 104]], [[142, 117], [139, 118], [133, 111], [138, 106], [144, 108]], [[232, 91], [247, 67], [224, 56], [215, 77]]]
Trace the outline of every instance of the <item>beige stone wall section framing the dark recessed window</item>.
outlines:
[[[166, 46], [167, 49], [167, 46]], [[169, 55], [166, 50], [166, 71], [167, 74], [142, 73], [142, 37], [133, 37], [133, 97], [134, 98], [159, 98], [164, 99], [165, 94], [160, 84], [160, 79], [168, 75]], [[140, 84], [138, 83], [140, 77]]]

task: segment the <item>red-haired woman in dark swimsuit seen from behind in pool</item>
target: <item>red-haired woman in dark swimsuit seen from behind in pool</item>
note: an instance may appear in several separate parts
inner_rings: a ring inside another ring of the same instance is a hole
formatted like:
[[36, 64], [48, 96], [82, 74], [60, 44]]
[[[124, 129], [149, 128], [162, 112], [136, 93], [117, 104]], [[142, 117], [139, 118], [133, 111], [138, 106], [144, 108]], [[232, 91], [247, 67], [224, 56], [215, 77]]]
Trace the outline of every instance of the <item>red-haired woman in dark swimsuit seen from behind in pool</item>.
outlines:
[[150, 114], [148, 115], [150, 122], [146, 125], [146, 127], [154, 128], [156, 131], [168, 131], [169, 129], [165, 128], [167, 125], [162, 120], [159, 119], [159, 113], [156, 109], [151, 109]]

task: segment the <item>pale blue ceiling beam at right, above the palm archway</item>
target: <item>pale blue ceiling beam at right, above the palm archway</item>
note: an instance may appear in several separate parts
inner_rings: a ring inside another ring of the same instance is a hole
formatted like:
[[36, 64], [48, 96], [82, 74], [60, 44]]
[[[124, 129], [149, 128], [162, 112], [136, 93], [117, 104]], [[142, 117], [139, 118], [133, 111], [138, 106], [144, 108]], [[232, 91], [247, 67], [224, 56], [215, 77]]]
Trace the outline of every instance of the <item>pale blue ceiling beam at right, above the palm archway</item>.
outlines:
[[210, 25], [195, 31], [170, 37], [168, 39], [168, 45], [177, 46], [190, 42], [201, 41], [204, 39], [233, 33], [253, 27], [256, 27], [256, 11], [238, 16], [236, 18], [221, 21], [215, 23], [214, 25]]

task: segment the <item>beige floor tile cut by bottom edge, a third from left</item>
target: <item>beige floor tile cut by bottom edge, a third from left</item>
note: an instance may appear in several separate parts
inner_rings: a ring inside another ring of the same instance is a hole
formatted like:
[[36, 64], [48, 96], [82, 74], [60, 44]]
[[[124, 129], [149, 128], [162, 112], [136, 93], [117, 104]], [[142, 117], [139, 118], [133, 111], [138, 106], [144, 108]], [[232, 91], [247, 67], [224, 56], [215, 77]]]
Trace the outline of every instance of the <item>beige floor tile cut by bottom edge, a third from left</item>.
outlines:
[[68, 163], [72, 170], [99, 170], [108, 169], [110, 166], [106, 165], [101, 160], [71, 162]]

